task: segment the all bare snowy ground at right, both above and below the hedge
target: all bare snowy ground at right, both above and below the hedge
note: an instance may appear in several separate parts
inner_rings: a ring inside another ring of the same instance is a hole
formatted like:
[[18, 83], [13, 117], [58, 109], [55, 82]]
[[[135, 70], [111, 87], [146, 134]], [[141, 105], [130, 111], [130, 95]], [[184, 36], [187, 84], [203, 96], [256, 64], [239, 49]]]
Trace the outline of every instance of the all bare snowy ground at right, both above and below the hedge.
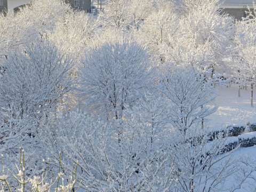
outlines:
[[[218, 91], [218, 96], [215, 98], [217, 111], [208, 117], [210, 129], [218, 130], [227, 125], [246, 125], [246, 123], [256, 123], [256, 88], [254, 87], [254, 107], [251, 107], [251, 89], [247, 87], [241, 90], [241, 97], [238, 97], [238, 86], [222, 87]], [[248, 130], [246, 130], [248, 131]], [[245, 132], [246, 132], [245, 131]], [[235, 158], [250, 158], [256, 163], [256, 146], [239, 148], [234, 153]], [[252, 177], [256, 179], [256, 171]], [[235, 180], [235, 178], [234, 178]], [[227, 185], [232, 185], [233, 181], [229, 181]], [[256, 191], [256, 181], [252, 178], [247, 178], [241, 189], [237, 192]]]

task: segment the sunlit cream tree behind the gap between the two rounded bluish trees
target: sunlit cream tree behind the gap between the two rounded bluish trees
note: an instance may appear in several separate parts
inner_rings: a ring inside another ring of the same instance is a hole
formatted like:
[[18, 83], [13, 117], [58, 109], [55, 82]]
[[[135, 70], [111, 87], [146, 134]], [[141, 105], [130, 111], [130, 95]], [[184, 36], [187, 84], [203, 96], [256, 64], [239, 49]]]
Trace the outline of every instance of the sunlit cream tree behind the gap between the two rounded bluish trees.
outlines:
[[[78, 69], [82, 65], [80, 61], [92, 44], [98, 23], [98, 19], [95, 19], [91, 14], [83, 11], [69, 11], [60, 21], [55, 23], [54, 30], [46, 35], [46, 38], [54, 42], [63, 54], [70, 56], [70, 59], [74, 61], [74, 67], [71, 71], [73, 79], [77, 78]], [[63, 105], [70, 109], [79, 106], [76, 90], [73, 89], [66, 94]]]

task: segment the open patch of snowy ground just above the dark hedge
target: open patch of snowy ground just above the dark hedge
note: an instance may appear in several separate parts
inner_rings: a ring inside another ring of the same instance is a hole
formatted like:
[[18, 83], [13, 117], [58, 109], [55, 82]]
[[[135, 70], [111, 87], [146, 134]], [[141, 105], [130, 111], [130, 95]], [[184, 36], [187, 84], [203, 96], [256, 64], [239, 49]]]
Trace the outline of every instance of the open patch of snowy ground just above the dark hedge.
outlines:
[[253, 95], [254, 107], [251, 107], [251, 87], [241, 89], [238, 97], [238, 85], [219, 88], [215, 98], [217, 111], [208, 117], [210, 129], [218, 130], [227, 125], [246, 125], [256, 123], [256, 88]]

